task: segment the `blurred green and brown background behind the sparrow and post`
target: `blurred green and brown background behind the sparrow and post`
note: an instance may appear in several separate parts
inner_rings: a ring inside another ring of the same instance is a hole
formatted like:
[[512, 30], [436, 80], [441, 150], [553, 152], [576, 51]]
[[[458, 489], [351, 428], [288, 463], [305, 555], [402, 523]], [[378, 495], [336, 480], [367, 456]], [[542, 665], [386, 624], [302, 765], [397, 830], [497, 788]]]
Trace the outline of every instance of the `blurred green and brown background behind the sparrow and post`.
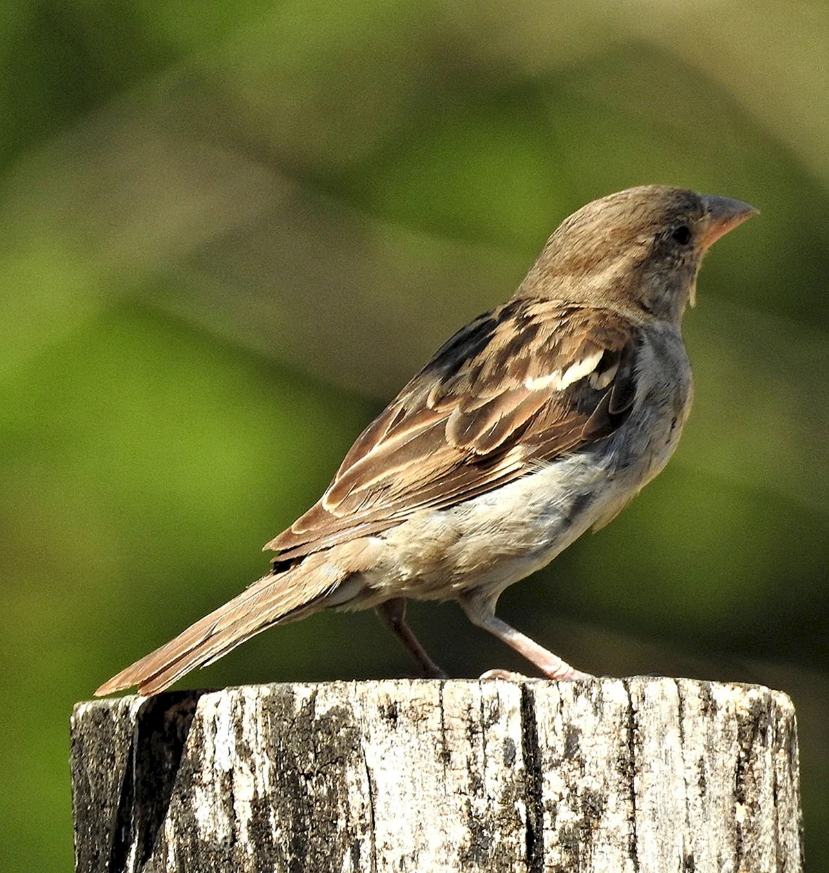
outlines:
[[[72, 704], [262, 574], [435, 347], [644, 182], [763, 214], [702, 273], [668, 470], [500, 612], [593, 672], [788, 691], [829, 868], [825, 2], [5, 0], [0, 47], [0, 868], [71, 868]], [[455, 675], [523, 666], [411, 615]], [[410, 670], [319, 615], [182, 684]]]

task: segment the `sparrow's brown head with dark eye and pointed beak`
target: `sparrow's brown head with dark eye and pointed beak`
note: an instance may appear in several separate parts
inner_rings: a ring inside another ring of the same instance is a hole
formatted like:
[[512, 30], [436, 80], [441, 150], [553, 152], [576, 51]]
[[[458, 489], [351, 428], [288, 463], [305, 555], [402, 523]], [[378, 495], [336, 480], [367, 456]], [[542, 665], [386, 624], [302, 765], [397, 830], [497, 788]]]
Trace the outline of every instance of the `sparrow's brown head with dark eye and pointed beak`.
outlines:
[[665, 185], [619, 191], [565, 218], [517, 293], [678, 324], [705, 252], [756, 214], [740, 200]]

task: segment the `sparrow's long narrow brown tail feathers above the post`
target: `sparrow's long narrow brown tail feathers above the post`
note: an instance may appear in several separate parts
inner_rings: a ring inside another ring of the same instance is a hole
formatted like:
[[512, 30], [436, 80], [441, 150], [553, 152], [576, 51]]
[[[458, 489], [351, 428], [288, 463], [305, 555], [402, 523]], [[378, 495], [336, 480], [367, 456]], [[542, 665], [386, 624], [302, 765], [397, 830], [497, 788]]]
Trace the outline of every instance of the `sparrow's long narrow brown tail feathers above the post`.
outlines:
[[317, 556], [283, 573], [263, 576], [169, 643], [121, 670], [95, 691], [96, 697], [134, 685], [139, 694], [157, 694], [271, 625], [307, 615], [344, 576], [338, 567], [313, 557]]

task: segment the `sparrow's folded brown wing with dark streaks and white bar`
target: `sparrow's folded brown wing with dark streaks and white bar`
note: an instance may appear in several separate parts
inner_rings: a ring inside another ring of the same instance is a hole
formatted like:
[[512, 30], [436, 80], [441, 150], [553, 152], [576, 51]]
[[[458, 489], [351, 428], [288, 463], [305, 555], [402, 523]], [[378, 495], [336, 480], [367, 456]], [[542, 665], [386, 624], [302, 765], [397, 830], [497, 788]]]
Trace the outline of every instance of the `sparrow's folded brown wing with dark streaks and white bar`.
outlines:
[[277, 562], [401, 524], [608, 436], [634, 401], [636, 327], [616, 313], [510, 300], [455, 334], [358, 437]]

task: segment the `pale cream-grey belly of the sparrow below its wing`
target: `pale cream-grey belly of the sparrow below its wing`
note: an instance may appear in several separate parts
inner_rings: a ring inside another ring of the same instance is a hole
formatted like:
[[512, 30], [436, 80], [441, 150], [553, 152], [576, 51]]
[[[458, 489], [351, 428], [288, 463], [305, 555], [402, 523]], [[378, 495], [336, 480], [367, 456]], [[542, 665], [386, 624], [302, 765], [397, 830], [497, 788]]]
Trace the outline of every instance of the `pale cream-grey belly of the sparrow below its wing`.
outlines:
[[[662, 397], [664, 401], [668, 398]], [[499, 593], [545, 567], [591, 526], [603, 526], [668, 463], [688, 414], [646, 404], [587, 450], [443, 510], [415, 512], [378, 537], [382, 557], [361, 574], [363, 597], [451, 600], [470, 589]]]

